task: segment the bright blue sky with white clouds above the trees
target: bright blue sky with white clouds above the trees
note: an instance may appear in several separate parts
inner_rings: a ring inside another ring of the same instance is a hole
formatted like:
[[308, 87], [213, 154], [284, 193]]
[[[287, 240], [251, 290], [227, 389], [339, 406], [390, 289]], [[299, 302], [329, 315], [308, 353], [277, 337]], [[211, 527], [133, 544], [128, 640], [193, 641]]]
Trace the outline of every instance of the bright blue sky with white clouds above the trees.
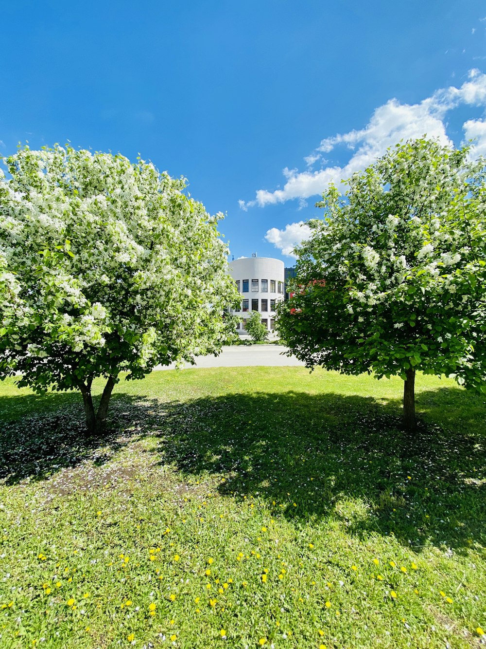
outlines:
[[189, 180], [235, 258], [275, 256], [330, 180], [427, 133], [486, 154], [482, 1], [2, 6], [0, 154], [70, 141]]

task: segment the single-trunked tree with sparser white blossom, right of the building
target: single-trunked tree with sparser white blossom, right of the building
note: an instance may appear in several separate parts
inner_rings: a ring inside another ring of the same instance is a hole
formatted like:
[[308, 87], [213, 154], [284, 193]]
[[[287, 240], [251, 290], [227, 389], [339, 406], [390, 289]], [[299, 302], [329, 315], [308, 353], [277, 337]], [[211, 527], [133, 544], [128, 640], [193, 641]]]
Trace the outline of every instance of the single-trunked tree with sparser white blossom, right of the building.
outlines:
[[279, 333], [308, 367], [401, 376], [409, 428], [416, 371], [486, 391], [486, 189], [467, 153], [400, 143], [344, 198], [331, 186], [279, 306]]

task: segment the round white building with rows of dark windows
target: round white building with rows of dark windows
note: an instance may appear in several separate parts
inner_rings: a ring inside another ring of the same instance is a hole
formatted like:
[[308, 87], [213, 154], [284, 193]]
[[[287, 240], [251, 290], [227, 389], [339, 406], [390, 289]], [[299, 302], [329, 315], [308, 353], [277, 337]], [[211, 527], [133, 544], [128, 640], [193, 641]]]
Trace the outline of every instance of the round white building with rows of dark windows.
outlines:
[[229, 272], [241, 293], [240, 310], [232, 310], [240, 322], [238, 333], [246, 332], [246, 319], [259, 311], [270, 331], [275, 326], [275, 304], [284, 299], [284, 263], [270, 257], [244, 257], [229, 262]]

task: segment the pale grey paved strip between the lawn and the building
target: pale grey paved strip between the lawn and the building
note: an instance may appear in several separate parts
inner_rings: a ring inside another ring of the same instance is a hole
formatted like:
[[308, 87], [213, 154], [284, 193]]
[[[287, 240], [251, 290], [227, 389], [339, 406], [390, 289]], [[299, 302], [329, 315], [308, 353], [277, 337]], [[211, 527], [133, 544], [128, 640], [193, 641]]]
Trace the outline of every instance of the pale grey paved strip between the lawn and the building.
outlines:
[[[281, 356], [286, 351], [282, 345], [232, 345], [223, 347], [219, 356], [198, 356], [196, 365], [187, 364], [185, 367], [248, 367], [249, 365], [267, 365], [282, 367], [283, 365], [304, 365], [295, 356]], [[174, 369], [172, 365], [157, 365], [158, 369]]]

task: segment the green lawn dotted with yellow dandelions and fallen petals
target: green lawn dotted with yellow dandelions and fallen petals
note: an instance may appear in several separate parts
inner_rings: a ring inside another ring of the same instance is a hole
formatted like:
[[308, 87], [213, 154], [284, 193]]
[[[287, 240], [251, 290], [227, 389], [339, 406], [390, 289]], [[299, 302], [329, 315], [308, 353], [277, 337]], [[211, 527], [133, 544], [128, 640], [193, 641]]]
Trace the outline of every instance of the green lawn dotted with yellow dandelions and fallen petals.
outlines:
[[[479, 647], [485, 397], [300, 367], [0, 384], [0, 646]], [[97, 384], [98, 391], [101, 384]]]

